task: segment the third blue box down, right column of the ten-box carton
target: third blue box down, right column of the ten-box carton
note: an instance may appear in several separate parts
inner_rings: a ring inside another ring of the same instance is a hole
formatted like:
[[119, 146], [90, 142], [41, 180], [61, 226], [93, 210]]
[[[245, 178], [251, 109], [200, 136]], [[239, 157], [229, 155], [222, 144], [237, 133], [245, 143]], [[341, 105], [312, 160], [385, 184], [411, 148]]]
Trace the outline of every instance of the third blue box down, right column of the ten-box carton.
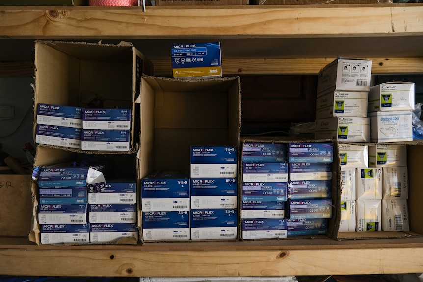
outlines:
[[332, 196], [331, 180], [289, 181], [287, 196], [296, 199], [327, 199]]

